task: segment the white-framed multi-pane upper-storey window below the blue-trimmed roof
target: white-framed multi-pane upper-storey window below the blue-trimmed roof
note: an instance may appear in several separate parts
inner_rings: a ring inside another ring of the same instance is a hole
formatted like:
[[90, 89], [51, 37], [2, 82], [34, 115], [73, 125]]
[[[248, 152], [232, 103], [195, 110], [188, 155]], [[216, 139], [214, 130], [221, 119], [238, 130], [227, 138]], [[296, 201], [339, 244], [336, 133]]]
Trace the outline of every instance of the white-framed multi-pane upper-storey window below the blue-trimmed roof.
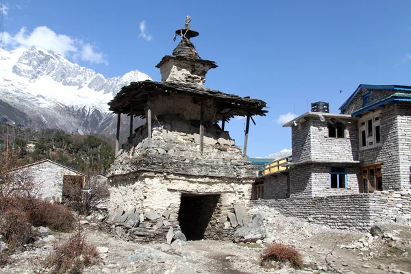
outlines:
[[379, 125], [379, 112], [375, 112], [364, 119], [358, 121], [360, 127], [360, 147], [361, 149], [381, 145], [381, 126]]

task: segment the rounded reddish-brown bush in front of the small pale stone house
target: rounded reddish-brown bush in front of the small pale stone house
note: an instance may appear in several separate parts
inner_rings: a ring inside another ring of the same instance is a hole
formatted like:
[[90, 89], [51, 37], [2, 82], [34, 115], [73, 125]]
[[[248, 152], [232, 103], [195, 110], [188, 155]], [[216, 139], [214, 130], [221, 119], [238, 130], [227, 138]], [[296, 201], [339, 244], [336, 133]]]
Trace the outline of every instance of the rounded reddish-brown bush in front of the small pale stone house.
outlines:
[[49, 227], [58, 232], [71, 232], [75, 227], [75, 216], [69, 208], [40, 199], [28, 211], [29, 220], [35, 227]]

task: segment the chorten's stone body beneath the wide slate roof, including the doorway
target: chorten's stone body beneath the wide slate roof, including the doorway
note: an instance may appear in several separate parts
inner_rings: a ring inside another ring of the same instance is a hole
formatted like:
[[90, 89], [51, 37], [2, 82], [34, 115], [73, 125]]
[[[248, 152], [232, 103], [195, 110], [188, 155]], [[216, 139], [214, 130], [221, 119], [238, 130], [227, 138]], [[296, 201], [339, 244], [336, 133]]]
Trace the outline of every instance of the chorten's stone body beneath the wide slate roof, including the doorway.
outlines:
[[147, 124], [135, 132], [108, 177], [111, 215], [132, 212], [138, 222], [119, 228], [119, 216], [109, 220], [113, 232], [128, 230], [134, 240], [164, 240], [173, 227], [192, 239], [231, 238], [227, 214], [237, 203], [248, 208], [255, 172], [228, 132], [206, 123], [202, 154], [196, 120], [156, 116], [151, 147]]

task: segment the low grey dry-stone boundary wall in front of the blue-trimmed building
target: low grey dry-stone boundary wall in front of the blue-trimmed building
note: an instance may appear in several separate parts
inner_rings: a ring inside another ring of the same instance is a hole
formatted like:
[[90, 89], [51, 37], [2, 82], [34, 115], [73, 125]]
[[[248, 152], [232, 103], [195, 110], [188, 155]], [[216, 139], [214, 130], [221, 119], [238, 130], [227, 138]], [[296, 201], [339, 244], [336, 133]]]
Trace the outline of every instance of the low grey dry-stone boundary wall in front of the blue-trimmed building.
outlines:
[[273, 208], [284, 216], [308, 219], [338, 229], [369, 230], [379, 221], [394, 222], [411, 212], [411, 190], [376, 191], [329, 197], [251, 201], [251, 208]]

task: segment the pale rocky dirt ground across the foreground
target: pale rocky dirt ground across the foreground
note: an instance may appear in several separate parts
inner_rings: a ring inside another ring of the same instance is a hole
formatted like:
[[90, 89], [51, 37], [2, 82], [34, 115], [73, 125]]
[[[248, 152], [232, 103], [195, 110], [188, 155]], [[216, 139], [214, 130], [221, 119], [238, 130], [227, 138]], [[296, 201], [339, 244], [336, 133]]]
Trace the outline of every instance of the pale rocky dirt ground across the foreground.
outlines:
[[[84, 225], [88, 241], [99, 249], [102, 262], [85, 273], [411, 273], [410, 226], [382, 225], [380, 235], [371, 236], [313, 225], [278, 212], [260, 214], [268, 235], [262, 242], [249, 244], [177, 240], [171, 245], [139, 245], [112, 238], [99, 229], [98, 221], [89, 220]], [[69, 234], [45, 232], [42, 240], [12, 255], [10, 264], [0, 273], [45, 273], [42, 260], [68, 237]], [[260, 254], [273, 242], [297, 248], [304, 268], [262, 268]]]

